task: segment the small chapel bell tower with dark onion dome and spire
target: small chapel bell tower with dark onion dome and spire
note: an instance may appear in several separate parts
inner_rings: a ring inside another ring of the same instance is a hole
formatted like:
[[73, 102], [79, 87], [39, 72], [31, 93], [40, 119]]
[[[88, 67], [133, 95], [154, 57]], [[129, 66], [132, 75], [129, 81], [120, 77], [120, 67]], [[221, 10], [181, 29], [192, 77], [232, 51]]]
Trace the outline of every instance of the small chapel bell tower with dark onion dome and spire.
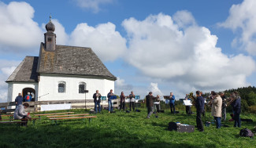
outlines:
[[44, 48], [46, 51], [54, 51], [56, 49], [56, 34], [54, 34], [55, 26], [51, 22], [51, 16], [49, 23], [46, 24], [46, 31], [44, 34]]

